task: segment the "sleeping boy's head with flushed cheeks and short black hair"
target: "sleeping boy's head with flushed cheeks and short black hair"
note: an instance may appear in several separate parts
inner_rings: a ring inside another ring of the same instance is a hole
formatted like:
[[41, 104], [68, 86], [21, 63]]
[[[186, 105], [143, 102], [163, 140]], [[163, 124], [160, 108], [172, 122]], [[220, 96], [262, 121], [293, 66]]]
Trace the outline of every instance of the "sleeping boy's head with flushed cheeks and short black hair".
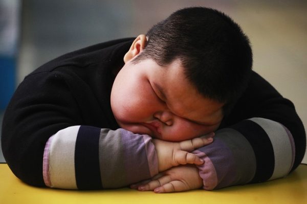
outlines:
[[252, 52], [228, 16], [198, 7], [138, 36], [124, 61], [111, 94], [119, 125], [181, 141], [217, 129], [246, 87]]

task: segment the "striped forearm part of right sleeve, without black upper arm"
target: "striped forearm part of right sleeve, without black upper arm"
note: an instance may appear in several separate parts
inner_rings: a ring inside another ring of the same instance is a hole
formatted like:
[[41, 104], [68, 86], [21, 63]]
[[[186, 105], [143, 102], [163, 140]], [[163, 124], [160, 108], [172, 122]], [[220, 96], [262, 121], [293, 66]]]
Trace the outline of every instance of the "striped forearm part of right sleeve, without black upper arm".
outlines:
[[194, 153], [205, 161], [199, 166], [203, 188], [212, 190], [286, 176], [294, 164], [295, 145], [280, 123], [252, 118], [216, 131], [214, 142]]

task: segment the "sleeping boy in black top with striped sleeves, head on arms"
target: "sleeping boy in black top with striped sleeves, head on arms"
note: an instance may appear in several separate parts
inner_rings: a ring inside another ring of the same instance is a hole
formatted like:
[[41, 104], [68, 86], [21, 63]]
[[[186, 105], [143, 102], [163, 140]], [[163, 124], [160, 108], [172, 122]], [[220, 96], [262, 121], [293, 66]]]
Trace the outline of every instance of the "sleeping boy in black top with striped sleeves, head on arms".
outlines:
[[164, 193], [286, 176], [303, 158], [304, 128], [251, 68], [229, 16], [181, 9], [146, 35], [29, 74], [4, 116], [4, 156], [25, 183], [63, 189]]

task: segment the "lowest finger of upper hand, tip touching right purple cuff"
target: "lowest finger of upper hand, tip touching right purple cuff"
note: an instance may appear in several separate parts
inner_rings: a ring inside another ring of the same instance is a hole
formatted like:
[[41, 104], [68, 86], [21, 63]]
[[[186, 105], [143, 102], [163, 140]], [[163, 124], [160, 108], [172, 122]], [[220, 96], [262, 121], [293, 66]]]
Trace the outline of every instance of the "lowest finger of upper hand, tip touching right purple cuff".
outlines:
[[196, 156], [193, 153], [189, 153], [186, 151], [176, 151], [174, 153], [173, 158], [173, 166], [178, 166], [180, 164], [195, 164], [195, 165], [202, 165], [204, 163], [204, 160], [202, 160], [200, 157]]

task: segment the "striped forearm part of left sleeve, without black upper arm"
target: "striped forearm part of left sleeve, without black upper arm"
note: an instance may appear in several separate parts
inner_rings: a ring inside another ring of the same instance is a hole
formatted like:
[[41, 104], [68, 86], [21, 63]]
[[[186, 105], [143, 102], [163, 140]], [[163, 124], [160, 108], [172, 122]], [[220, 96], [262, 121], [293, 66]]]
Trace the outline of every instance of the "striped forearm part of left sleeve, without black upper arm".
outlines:
[[124, 129], [68, 127], [48, 140], [43, 154], [43, 179], [52, 188], [120, 188], [157, 173], [151, 138]]

